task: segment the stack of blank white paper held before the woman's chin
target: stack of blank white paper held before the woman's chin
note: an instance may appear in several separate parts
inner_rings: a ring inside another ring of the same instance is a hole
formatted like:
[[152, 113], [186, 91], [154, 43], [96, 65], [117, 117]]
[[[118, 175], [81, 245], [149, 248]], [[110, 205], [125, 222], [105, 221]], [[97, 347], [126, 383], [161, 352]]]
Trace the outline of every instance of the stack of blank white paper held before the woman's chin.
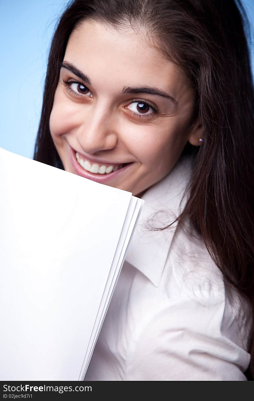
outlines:
[[83, 380], [142, 199], [0, 148], [0, 380]]

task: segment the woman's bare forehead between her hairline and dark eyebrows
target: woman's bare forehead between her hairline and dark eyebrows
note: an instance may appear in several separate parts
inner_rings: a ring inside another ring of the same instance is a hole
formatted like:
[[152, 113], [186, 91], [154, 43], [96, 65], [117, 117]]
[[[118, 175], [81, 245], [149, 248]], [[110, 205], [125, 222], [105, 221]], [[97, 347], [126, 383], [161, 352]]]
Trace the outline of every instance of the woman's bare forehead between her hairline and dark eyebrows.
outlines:
[[[144, 31], [131, 27], [117, 30], [95, 20], [75, 28], [67, 43], [65, 60], [91, 77], [91, 84], [114, 87], [152, 85], [181, 96], [187, 89], [177, 65], [149, 43]], [[106, 78], [106, 81], [105, 81]]]

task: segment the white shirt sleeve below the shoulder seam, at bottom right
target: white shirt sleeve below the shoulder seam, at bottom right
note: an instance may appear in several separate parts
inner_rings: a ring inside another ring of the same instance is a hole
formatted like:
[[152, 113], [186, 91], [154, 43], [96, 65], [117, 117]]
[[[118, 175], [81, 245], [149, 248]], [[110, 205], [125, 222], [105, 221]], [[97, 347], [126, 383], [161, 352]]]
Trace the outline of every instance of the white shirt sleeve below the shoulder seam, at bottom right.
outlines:
[[132, 338], [127, 380], [246, 381], [246, 314], [236, 313], [211, 292], [164, 300]]

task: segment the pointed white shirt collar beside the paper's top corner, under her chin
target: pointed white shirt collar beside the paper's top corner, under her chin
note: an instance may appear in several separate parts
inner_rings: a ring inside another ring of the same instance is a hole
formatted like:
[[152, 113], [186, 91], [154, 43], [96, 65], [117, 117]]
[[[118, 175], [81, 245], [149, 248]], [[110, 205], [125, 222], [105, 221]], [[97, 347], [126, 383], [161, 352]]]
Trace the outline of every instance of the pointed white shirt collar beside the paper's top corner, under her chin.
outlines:
[[182, 203], [181, 200], [190, 175], [191, 158], [181, 156], [173, 170], [142, 196], [144, 206], [125, 260], [143, 273], [156, 287], [161, 282], [177, 222], [163, 231], [151, 231], [149, 227], [165, 227], [183, 211], [187, 201], [186, 196]]

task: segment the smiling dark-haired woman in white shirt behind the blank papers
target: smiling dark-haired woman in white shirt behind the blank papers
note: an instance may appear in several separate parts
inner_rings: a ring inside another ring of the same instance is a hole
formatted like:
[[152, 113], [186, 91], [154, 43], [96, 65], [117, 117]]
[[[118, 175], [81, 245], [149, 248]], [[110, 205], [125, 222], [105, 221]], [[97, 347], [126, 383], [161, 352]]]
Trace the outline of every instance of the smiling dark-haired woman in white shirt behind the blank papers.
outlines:
[[59, 21], [34, 159], [145, 200], [85, 380], [251, 379], [245, 18], [234, 0], [76, 0]]

